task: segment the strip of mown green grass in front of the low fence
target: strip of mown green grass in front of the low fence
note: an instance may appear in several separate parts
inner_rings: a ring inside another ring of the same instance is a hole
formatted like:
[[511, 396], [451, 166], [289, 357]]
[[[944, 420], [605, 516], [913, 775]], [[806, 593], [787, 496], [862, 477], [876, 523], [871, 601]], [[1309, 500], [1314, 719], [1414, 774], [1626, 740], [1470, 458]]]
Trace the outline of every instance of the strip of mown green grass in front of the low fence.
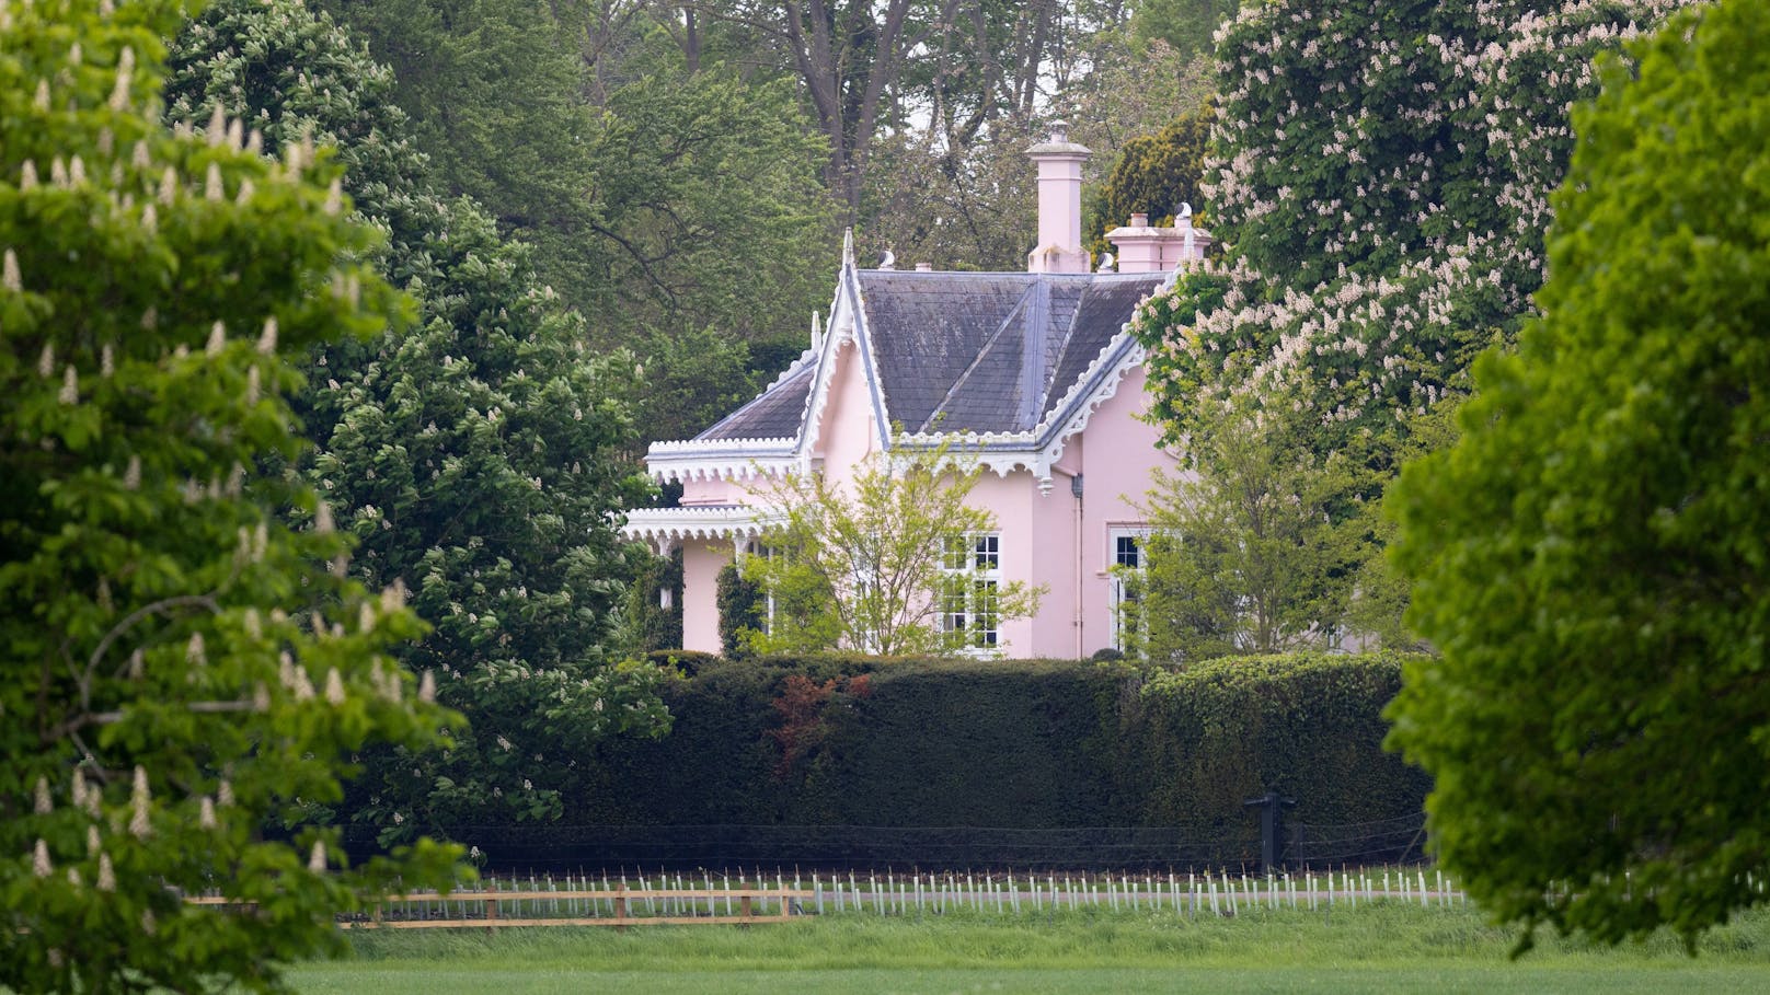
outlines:
[[350, 961], [299, 965], [304, 995], [565, 991], [1770, 991], [1770, 914], [1697, 958], [1669, 937], [1620, 949], [1515, 933], [1467, 908], [1400, 903], [1239, 919], [1060, 912], [827, 915], [779, 926], [358, 933]]

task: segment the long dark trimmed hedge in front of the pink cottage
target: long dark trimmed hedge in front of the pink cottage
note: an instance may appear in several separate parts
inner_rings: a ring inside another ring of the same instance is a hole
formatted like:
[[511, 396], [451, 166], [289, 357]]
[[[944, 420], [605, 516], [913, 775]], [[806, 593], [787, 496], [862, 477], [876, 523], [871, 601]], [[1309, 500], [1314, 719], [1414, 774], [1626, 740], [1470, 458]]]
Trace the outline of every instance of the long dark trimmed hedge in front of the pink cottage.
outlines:
[[1400, 660], [699, 659], [666, 738], [577, 758], [563, 821], [1243, 832], [1267, 790], [1312, 823], [1411, 814], [1430, 784], [1381, 747]]

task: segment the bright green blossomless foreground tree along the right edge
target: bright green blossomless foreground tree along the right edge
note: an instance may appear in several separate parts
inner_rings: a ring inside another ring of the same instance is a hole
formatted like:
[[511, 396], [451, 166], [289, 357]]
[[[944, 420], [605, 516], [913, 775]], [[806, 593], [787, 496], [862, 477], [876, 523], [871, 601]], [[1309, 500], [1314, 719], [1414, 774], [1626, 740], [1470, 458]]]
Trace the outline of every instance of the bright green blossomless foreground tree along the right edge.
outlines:
[[1545, 317], [1407, 467], [1391, 742], [1504, 921], [1687, 944], [1770, 875], [1770, 21], [1726, 0], [1575, 113]]

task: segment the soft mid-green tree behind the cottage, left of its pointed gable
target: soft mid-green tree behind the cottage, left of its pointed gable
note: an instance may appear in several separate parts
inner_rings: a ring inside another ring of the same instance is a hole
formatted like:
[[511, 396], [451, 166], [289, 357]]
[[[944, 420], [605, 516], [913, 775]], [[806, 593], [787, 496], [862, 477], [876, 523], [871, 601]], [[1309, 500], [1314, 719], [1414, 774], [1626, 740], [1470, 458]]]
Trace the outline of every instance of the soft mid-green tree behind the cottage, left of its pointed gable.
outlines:
[[598, 351], [683, 326], [800, 335], [839, 228], [795, 90], [754, 57], [667, 58], [660, 7], [586, 7], [326, 2], [391, 66], [442, 191], [535, 246]]

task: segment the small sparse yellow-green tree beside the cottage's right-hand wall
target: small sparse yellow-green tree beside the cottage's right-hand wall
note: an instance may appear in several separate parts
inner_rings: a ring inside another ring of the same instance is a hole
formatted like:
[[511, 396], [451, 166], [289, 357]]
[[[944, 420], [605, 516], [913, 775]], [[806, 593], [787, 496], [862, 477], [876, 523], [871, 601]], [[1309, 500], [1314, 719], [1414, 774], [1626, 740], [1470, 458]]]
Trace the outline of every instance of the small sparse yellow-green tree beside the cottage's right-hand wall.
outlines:
[[[1331, 646], [1370, 556], [1345, 453], [1317, 453], [1303, 420], [1276, 425], [1248, 404], [1207, 413], [1191, 469], [1154, 492], [1129, 632], [1154, 659], [1207, 660]], [[1142, 625], [1138, 625], [1142, 621]]]

